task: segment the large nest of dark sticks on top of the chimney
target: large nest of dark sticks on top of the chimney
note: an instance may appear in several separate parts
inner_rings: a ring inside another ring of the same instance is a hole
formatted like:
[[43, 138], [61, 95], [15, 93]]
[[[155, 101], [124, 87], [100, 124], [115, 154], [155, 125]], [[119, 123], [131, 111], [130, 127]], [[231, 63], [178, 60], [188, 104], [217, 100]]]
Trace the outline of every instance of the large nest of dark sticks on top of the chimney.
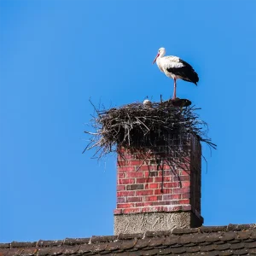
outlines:
[[137, 102], [108, 110], [93, 107], [96, 115], [92, 117], [90, 125], [94, 131], [84, 131], [90, 135], [84, 151], [96, 148], [96, 158], [117, 152], [119, 148], [134, 150], [166, 145], [170, 135], [188, 133], [216, 148], [207, 137], [207, 123], [199, 119], [196, 113], [200, 108], [175, 107], [171, 101], [153, 102], [148, 106]]

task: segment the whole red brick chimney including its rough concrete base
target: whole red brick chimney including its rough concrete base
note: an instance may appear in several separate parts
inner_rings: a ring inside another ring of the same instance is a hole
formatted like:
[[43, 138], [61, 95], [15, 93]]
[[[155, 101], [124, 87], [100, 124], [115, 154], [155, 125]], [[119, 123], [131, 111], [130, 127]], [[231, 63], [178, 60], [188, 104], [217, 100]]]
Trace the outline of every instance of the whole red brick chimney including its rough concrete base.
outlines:
[[164, 146], [120, 148], [114, 234], [199, 227], [201, 143], [172, 135]]

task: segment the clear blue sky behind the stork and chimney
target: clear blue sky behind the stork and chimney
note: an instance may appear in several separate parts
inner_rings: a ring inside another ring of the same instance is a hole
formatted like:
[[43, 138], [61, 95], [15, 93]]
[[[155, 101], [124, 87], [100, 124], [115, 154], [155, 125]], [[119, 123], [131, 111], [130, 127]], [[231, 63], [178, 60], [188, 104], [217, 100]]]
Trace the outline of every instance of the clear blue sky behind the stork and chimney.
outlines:
[[81, 154], [89, 98], [106, 107], [172, 96], [160, 47], [188, 61], [218, 144], [202, 166], [205, 225], [256, 222], [256, 2], [0, 3], [0, 241], [113, 234], [115, 157]]

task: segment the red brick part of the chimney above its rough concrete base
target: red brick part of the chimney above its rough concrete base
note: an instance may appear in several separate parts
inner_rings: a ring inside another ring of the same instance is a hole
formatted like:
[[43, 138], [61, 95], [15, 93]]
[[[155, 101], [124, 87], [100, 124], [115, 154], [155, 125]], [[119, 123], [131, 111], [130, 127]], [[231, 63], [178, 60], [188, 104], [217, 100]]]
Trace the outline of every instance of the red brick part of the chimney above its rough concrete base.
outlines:
[[144, 154], [122, 149], [114, 214], [192, 210], [200, 216], [201, 144], [190, 135], [170, 143], [171, 150], [163, 146]]

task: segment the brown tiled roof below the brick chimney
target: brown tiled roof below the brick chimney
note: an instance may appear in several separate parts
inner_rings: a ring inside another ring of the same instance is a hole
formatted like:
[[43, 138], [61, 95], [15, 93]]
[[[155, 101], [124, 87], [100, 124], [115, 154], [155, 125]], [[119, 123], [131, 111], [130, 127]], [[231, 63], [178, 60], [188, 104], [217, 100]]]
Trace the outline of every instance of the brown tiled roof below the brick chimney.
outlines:
[[252, 254], [256, 254], [256, 224], [0, 243], [0, 256]]

